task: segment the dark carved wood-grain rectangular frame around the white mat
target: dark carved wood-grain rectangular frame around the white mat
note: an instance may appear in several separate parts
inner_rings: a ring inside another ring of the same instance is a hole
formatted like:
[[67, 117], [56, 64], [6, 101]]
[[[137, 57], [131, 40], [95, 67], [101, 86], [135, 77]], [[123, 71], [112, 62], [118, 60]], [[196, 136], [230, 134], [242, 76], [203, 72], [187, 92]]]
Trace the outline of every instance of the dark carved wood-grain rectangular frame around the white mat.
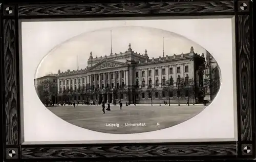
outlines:
[[[252, 43], [252, 2], [245, 1], [95, 1], [4, 3], [1, 8], [1, 106], [5, 160], [172, 160], [255, 158], [255, 66]], [[234, 15], [238, 91], [238, 142], [22, 145], [19, 99], [19, 18], [82, 18], [132, 16]], [[246, 153], [244, 149], [250, 149]], [[107, 158], [106, 158], [107, 157]], [[134, 158], [136, 157], [136, 159]]]

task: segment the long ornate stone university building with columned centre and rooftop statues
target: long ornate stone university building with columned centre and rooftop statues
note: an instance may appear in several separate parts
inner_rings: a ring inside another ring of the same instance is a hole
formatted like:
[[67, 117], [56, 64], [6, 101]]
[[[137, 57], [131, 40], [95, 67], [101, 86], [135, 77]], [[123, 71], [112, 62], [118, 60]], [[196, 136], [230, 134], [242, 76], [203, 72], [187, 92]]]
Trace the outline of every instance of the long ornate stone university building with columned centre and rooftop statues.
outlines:
[[[93, 57], [91, 52], [85, 69], [58, 71], [58, 101], [191, 104], [213, 99], [220, 86], [217, 62], [207, 51], [206, 58], [193, 47], [187, 51], [149, 58], [147, 50], [140, 54], [129, 44], [118, 54]], [[207, 85], [211, 82], [214, 86]]]

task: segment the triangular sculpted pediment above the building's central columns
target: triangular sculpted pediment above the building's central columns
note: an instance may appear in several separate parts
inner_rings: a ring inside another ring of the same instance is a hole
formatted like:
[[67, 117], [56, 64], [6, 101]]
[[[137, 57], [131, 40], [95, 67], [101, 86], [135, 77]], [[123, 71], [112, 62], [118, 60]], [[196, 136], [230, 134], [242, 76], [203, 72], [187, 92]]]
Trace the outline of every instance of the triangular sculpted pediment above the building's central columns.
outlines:
[[121, 66], [127, 66], [127, 64], [113, 60], [102, 60], [101, 62], [91, 67], [90, 71], [102, 70], [106, 68], [116, 68]]

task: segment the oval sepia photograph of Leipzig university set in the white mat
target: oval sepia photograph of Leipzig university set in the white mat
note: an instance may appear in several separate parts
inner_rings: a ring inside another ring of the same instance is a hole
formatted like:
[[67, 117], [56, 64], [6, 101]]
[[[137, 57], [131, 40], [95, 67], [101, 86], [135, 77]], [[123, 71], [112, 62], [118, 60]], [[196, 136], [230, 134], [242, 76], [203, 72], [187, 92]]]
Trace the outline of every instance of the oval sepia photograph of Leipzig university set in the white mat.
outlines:
[[215, 58], [170, 31], [103, 28], [57, 45], [34, 79], [39, 100], [82, 128], [132, 134], [187, 121], [214, 101], [221, 85]]

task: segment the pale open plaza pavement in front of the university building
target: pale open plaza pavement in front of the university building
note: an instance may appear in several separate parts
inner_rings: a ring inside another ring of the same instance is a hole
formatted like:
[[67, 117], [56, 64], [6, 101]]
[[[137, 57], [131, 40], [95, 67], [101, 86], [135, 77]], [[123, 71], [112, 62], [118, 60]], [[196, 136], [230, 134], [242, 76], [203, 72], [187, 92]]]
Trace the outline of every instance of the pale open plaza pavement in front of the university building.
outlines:
[[[66, 105], [48, 107], [48, 109], [61, 119], [82, 128], [104, 133], [129, 134], [172, 127], [195, 117], [205, 107], [207, 106], [193, 104], [191, 106], [137, 104], [124, 105], [120, 110], [119, 105], [111, 105], [111, 111], [105, 110], [105, 114], [100, 105], [79, 104], [75, 107]], [[127, 126], [127, 123], [136, 124]], [[111, 124], [115, 125], [111, 126]]]

